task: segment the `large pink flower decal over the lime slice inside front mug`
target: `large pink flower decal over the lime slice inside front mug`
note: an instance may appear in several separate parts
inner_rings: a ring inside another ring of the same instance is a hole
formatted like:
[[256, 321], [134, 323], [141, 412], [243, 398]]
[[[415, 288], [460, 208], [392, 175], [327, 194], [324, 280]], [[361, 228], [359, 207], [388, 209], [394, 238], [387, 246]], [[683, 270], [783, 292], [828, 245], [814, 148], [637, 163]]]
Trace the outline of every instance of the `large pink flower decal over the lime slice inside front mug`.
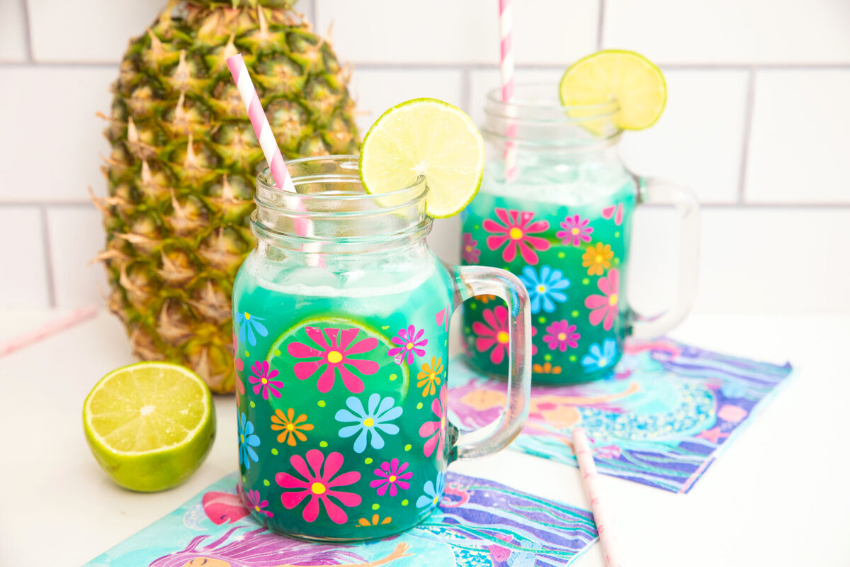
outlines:
[[[361, 374], [371, 375], [377, 372], [379, 366], [374, 360], [361, 360], [351, 358], [352, 354], [364, 354], [377, 347], [377, 338], [364, 338], [354, 343], [360, 329], [319, 329], [318, 327], [304, 327], [304, 332], [320, 346], [315, 349], [304, 343], [289, 343], [286, 352], [296, 358], [312, 358], [318, 360], [307, 360], [295, 365], [295, 376], [299, 380], [312, 377], [316, 371], [325, 366], [325, 371], [319, 377], [316, 388], [320, 392], [330, 392], [333, 383], [337, 379], [337, 371], [343, 378], [343, 384], [352, 394], [360, 394], [363, 391], [363, 380], [354, 375], [348, 368], [354, 368]], [[330, 343], [328, 342], [328, 340]], [[337, 342], [337, 336], [338, 342]]]

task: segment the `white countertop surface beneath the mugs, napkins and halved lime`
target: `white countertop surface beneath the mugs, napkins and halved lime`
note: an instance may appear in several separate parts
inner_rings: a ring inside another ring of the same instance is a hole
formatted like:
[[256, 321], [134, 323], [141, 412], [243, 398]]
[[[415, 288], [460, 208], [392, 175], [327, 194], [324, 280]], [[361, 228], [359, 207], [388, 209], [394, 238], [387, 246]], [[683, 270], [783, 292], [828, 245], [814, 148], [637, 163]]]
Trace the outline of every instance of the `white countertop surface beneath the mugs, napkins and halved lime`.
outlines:
[[[0, 341], [59, 312], [0, 314]], [[602, 477], [630, 567], [850, 565], [850, 376], [839, 367], [850, 315], [694, 315], [672, 337], [783, 363], [794, 375], [688, 495]], [[80, 565], [235, 470], [235, 404], [216, 398], [218, 435], [184, 485], [139, 494], [112, 484], [88, 451], [82, 400], [133, 361], [120, 323], [101, 313], [0, 359], [0, 565]], [[452, 470], [587, 508], [578, 471], [515, 451]], [[594, 545], [576, 567], [604, 565]]]

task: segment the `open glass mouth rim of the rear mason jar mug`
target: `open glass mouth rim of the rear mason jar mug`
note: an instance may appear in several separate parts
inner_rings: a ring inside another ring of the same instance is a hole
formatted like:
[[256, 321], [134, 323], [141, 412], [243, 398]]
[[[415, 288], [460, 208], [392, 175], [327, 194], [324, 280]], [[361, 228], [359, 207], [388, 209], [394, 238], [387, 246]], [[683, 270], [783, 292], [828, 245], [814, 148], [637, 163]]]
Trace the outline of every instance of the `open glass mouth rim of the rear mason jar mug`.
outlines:
[[613, 97], [587, 105], [563, 105], [558, 87], [552, 83], [521, 83], [513, 89], [510, 102], [501, 99], [501, 88], [487, 94], [485, 112], [489, 116], [510, 118], [514, 122], [587, 122], [612, 119], [620, 113]]

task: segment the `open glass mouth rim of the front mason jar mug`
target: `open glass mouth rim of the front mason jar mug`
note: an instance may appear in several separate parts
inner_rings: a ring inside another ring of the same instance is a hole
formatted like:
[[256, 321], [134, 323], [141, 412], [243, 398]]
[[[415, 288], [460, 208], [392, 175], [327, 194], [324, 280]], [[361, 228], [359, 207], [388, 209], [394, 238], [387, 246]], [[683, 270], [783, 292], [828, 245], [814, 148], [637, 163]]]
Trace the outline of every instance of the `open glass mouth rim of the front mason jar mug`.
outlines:
[[367, 193], [360, 181], [359, 156], [312, 156], [286, 162], [295, 193], [280, 190], [269, 167], [257, 174], [258, 205], [295, 215], [389, 213], [422, 201], [428, 191], [424, 176], [385, 193]]

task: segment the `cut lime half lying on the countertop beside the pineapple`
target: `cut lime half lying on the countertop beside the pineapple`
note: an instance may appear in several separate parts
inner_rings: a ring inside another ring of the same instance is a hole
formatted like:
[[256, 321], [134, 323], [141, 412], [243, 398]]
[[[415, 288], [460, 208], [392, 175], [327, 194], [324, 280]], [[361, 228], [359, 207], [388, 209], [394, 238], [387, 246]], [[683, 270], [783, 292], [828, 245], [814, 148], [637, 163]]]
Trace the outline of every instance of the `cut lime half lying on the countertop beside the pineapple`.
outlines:
[[194, 372], [139, 362], [101, 378], [82, 404], [94, 458], [118, 485], [166, 490], [201, 466], [215, 439], [209, 388]]

